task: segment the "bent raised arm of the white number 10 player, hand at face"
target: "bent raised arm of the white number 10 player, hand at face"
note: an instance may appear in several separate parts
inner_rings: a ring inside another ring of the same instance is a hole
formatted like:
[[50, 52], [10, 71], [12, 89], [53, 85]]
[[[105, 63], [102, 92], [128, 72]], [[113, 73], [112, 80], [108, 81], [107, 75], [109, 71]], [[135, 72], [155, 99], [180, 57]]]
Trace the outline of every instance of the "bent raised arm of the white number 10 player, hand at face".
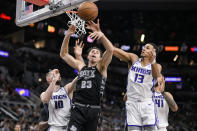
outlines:
[[53, 94], [53, 90], [55, 88], [55, 84], [58, 80], [58, 76], [55, 75], [54, 72], [52, 72], [53, 74], [53, 79], [52, 79], [52, 82], [50, 83], [49, 87], [47, 88], [47, 90], [45, 92], [42, 92], [41, 95], [40, 95], [40, 98], [41, 98], [41, 101], [43, 103], [48, 103], [51, 99], [51, 96]]

